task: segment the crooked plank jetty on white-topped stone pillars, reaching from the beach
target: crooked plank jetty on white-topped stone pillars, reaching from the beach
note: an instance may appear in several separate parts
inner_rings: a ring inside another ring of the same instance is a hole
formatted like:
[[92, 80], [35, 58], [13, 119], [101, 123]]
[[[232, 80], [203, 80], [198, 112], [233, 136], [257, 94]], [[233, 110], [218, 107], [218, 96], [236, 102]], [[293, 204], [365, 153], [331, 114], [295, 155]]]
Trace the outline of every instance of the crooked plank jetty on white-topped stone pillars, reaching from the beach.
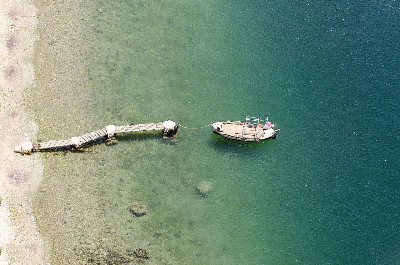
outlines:
[[83, 144], [92, 143], [101, 139], [112, 139], [117, 133], [123, 132], [142, 132], [150, 130], [161, 130], [166, 135], [174, 135], [178, 132], [178, 124], [169, 119], [164, 122], [130, 125], [107, 125], [100, 130], [89, 132], [78, 137], [71, 137], [68, 140], [50, 140], [44, 143], [24, 142], [14, 148], [14, 153], [30, 155], [33, 151], [42, 151], [46, 149], [79, 149]]

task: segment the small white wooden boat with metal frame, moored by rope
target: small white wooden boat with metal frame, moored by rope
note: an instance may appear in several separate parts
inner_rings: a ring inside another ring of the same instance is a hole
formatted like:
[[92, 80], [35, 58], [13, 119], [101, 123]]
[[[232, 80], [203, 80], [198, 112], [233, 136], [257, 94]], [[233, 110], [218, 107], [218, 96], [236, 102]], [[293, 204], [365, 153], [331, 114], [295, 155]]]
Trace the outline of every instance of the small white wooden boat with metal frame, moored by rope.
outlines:
[[[262, 124], [261, 122], [264, 122]], [[275, 125], [268, 121], [268, 116], [261, 118], [246, 116], [246, 121], [220, 121], [210, 122], [212, 132], [222, 135], [225, 139], [236, 141], [256, 142], [276, 137], [280, 129], [273, 129]]]

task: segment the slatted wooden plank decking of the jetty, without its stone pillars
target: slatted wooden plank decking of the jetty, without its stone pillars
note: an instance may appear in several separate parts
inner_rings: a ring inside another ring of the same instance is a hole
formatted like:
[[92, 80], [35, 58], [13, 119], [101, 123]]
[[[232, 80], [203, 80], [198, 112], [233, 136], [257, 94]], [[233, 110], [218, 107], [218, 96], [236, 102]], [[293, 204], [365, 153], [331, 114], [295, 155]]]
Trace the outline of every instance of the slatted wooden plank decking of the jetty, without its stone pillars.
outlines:
[[[113, 126], [113, 125], [111, 125], [111, 126]], [[114, 135], [114, 133], [141, 132], [141, 131], [150, 131], [150, 130], [164, 130], [164, 124], [162, 122], [159, 122], [159, 123], [115, 126], [115, 131], [112, 132], [112, 135]], [[108, 138], [109, 135], [110, 135], [110, 132], [107, 132], [106, 128], [102, 128], [100, 130], [95, 130], [94, 132], [89, 132], [85, 135], [81, 135], [81, 136], [78, 136], [75, 138], [78, 138], [80, 143], [84, 144], [84, 143], [90, 143], [93, 141], [98, 141], [99, 139]], [[50, 140], [45, 143], [32, 143], [32, 150], [64, 148], [64, 147], [70, 148], [72, 146], [74, 146], [72, 139]]]

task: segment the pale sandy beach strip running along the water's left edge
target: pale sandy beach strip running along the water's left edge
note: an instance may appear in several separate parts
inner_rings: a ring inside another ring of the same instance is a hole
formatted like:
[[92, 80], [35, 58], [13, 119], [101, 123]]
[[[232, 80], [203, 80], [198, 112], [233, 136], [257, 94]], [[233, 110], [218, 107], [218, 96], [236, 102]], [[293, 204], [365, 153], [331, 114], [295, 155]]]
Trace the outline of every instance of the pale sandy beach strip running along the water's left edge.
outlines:
[[34, 137], [35, 126], [22, 106], [24, 89], [34, 86], [30, 59], [37, 26], [32, 2], [0, 2], [0, 264], [4, 265], [47, 263], [31, 203], [35, 157], [14, 153], [14, 145]]

